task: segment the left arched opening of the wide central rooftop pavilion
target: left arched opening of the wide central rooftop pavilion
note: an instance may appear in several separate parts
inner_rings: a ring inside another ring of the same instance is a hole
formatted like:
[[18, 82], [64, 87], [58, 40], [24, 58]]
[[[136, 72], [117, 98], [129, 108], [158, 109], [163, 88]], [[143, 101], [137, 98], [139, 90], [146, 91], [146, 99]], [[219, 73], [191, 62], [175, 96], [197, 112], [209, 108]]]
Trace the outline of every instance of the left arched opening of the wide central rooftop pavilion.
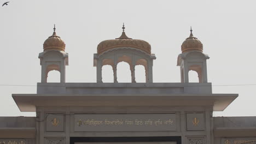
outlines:
[[114, 82], [114, 73], [111, 65], [103, 65], [102, 82]]

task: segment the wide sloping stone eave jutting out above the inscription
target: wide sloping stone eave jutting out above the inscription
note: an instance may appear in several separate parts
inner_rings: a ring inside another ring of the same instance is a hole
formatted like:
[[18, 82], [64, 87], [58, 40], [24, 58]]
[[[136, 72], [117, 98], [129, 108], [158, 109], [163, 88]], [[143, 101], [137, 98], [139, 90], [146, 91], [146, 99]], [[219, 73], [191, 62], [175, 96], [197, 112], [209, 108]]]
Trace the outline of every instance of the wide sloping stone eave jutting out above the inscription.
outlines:
[[238, 94], [13, 94], [22, 112], [36, 106], [213, 106], [223, 111]]

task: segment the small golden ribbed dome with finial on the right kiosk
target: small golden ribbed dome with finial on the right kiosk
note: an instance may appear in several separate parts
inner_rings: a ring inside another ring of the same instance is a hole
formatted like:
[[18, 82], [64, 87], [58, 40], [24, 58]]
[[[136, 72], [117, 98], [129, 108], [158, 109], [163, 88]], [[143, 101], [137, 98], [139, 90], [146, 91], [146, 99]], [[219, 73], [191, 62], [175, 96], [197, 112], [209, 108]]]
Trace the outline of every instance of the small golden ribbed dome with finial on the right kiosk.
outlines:
[[181, 49], [182, 52], [203, 51], [203, 45], [199, 39], [193, 36], [192, 29], [190, 29], [189, 37], [185, 41], [183, 41]]

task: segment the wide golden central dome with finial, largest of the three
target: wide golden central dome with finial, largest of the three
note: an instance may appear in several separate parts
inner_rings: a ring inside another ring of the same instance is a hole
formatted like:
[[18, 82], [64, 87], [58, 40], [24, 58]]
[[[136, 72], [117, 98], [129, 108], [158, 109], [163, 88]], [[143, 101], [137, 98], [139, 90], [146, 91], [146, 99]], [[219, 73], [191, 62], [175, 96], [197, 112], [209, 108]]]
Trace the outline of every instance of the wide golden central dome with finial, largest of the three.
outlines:
[[101, 54], [118, 47], [132, 47], [149, 54], [151, 53], [151, 46], [147, 41], [127, 37], [124, 29], [123, 25], [123, 33], [119, 38], [101, 41], [97, 46], [97, 53]]

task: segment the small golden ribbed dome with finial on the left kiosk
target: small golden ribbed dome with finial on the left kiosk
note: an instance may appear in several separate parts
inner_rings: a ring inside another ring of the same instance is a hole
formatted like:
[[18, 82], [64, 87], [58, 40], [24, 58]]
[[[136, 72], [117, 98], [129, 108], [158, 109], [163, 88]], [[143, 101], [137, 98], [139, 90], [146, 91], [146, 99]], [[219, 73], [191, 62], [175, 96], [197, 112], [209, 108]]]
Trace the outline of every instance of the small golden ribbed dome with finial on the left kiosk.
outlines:
[[64, 41], [56, 35], [55, 32], [55, 25], [54, 25], [54, 32], [53, 35], [51, 35], [48, 39], [44, 41], [44, 51], [48, 50], [59, 50], [59, 51], [65, 51], [66, 44]]

